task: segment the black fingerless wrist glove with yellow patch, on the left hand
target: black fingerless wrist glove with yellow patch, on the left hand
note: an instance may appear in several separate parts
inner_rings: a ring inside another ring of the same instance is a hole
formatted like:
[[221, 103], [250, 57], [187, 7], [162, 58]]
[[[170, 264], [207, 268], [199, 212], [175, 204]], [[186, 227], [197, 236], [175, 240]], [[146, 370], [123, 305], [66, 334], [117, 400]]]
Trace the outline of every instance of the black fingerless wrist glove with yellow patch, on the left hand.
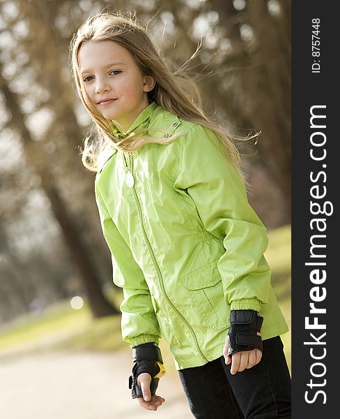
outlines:
[[141, 344], [132, 348], [132, 359], [134, 366], [132, 375], [129, 377], [129, 388], [132, 389], [132, 398], [143, 397], [141, 388], [137, 385], [137, 378], [142, 372], [147, 372], [151, 376], [150, 392], [154, 395], [160, 377], [165, 374], [162, 354], [157, 344]]

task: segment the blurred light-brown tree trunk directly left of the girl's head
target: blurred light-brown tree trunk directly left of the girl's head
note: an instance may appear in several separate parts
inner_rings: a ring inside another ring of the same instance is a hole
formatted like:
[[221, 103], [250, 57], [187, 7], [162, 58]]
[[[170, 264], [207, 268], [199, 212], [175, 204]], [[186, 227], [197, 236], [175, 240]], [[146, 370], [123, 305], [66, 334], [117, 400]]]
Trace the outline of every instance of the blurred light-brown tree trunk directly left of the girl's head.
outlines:
[[[45, 159], [54, 166], [54, 179], [59, 184], [60, 191], [66, 189], [63, 198], [68, 203], [68, 211], [77, 214], [73, 229], [82, 237], [88, 257], [97, 265], [96, 270], [102, 277], [111, 278], [111, 259], [94, 200], [93, 173], [84, 168], [79, 157], [82, 129], [75, 115], [76, 92], [72, 80], [66, 75], [70, 74], [70, 67], [65, 59], [70, 40], [61, 36], [55, 24], [63, 2], [51, 2], [48, 7], [45, 1], [39, 0], [18, 0], [17, 3], [29, 23], [29, 36], [21, 45], [29, 55], [29, 65], [38, 73], [39, 84], [49, 92], [49, 100], [44, 105], [53, 109], [55, 114], [54, 122], [45, 133], [43, 142], [53, 144], [58, 150], [59, 159], [56, 162], [56, 151], [45, 153]], [[68, 186], [65, 187], [65, 184]], [[72, 191], [75, 185], [77, 190]], [[77, 196], [77, 199], [68, 202], [69, 196]], [[112, 281], [111, 285], [114, 286]]]

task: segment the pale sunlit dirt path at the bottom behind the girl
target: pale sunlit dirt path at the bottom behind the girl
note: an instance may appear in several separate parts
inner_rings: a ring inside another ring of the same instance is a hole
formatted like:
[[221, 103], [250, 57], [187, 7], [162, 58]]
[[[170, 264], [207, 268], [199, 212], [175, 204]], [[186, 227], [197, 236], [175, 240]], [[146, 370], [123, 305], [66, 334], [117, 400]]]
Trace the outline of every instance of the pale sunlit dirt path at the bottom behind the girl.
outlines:
[[52, 352], [0, 358], [3, 419], [191, 419], [178, 376], [166, 374], [156, 412], [130, 398], [126, 351]]

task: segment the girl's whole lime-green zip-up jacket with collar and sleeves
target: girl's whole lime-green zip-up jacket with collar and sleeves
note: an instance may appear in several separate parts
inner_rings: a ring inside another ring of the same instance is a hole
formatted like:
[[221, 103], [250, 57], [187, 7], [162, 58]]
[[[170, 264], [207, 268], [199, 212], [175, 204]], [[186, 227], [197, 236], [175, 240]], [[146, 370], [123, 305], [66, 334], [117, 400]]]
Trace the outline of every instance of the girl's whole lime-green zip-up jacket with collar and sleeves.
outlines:
[[263, 339], [287, 332], [263, 256], [266, 229], [215, 133], [156, 103], [128, 132], [141, 127], [180, 135], [132, 153], [109, 147], [95, 179], [114, 283], [123, 288], [124, 341], [163, 336], [183, 369], [222, 355], [231, 309], [259, 311]]

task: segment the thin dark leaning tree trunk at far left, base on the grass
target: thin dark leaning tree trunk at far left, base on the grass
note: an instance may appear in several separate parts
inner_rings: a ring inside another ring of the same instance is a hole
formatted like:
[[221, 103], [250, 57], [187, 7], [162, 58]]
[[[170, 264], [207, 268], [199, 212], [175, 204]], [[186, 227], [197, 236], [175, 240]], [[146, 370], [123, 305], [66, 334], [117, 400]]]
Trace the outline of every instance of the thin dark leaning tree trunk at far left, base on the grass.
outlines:
[[93, 311], [93, 316], [100, 317], [109, 314], [117, 314], [117, 309], [108, 302], [105, 295], [102, 293], [100, 279], [95, 272], [95, 268], [91, 264], [91, 258], [88, 256], [86, 248], [82, 241], [79, 240], [79, 235], [68, 216], [68, 211], [61, 199], [59, 191], [56, 189], [54, 179], [47, 165], [47, 159], [42, 152], [42, 147], [39, 142], [36, 142], [31, 138], [31, 135], [24, 124], [24, 115], [18, 105], [17, 97], [10, 91], [6, 80], [4, 80], [1, 75], [0, 87], [3, 91], [3, 96], [5, 97], [6, 107], [12, 114], [10, 123], [12, 124], [13, 129], [20, 132], [22, 141], [24, 142], [26, 161], [36, 169], [36, 172], [40, 176], [42, 189], [49, 198], [54, 216], [63, 231], [65, 244], [68, 246], [72, 260], [74, 260], [77, 265], [88, 296], [88, 302]]

